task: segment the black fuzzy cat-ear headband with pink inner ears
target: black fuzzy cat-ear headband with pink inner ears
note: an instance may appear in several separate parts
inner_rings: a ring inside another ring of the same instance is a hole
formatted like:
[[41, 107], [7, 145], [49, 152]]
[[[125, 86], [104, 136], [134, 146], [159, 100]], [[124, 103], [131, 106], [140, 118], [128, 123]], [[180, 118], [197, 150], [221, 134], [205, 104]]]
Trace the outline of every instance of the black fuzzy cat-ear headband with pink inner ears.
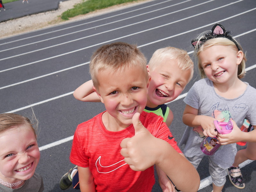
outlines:
[[230, 41], [234, 42], [234, 44], [236, 44], [236, 47], [237, 47], [238, 51], [241, 50], [241, 48], [237, 44], [236, 40], [233, 39], [233, 37], [231, 36], [231, 32], [226, 31], [225, 28], [222, 25], [220, 25], [219, 23], [215, 24], [212, 27], [212, 30], [208, 33], [205, 33], [204, 36], [200, 40], [194, 39], [194, 40], [191, 41], [191, 43], [194, 47], [196, 47], [198, 49], [207, 40], [212, 39], [212, 38], [218, 38], [218, 37], [225, 37], [225, 38], [229, 39]]

